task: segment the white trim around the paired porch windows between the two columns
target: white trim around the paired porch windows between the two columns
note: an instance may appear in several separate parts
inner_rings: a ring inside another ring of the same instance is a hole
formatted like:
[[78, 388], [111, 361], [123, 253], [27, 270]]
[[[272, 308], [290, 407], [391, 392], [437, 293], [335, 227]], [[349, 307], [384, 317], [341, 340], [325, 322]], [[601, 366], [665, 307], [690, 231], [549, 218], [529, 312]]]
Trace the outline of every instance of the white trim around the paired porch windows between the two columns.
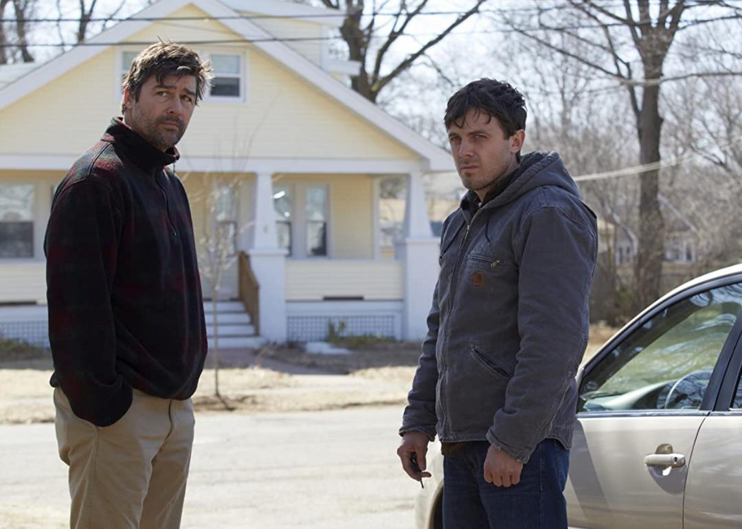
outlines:
[[[277, 185], [276, 187], [289, 188], [291, 191], [291, 260], [332, 260], [335, 251], [332, 245], [334, 228], [332, 223], [332, 185], [327, 181], [302, 181]], [[306, 188], [325, 188], [327, 191], [327, 254], [309, 255], [306, 252]]]

